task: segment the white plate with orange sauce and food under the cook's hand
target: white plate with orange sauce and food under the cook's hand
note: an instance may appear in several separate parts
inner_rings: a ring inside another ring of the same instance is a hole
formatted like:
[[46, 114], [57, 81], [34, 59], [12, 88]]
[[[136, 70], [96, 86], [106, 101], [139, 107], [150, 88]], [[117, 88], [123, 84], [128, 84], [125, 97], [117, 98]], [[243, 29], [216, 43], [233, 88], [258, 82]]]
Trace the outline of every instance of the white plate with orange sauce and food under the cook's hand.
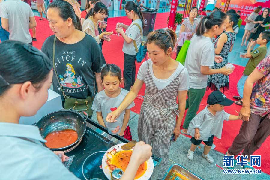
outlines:
[[[105, 155], [102, 158], [102, 170], [105, 176], [110, 179], [111, 173], [114, 168], [120, 168], [125, 172], [126, 167], [128, 166], [131, 154], [133, 149], [124, 151], [121, 146], [125, 143], [117, 144], [107, 150]], [[146, 180], [150, 179], [154, 170], [154, 162], [152, 157], [147, 160], [145, 163], [141, 164], [135, 179], [137, 180]]]

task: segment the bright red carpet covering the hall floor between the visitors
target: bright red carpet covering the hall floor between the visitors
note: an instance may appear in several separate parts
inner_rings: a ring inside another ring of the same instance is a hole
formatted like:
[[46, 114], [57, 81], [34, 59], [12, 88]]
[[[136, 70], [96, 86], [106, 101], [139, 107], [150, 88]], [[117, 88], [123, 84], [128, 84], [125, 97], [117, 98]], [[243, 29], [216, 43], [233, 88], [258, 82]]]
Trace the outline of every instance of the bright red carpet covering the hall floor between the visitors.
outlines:
[[[158, 28], [164, 28], [167, 27], [167, 20], [165, 22], [166, 17], [168, 17], [168, 13], [158, 13], [157, 19], [156, 19], [156, 25], [155, 29]], [[34, 42], [33, 45], [39, 49], [41, 49], [41, 46], [45, 39], [52, 35], [52, 31], [49, 28], [47, 21], [40, 21], [39, 18], [36, 17], [36, 20], [38, 22], [37, 26], [37, 42]], [[114, 30], [117, 22], [124, 22], [124, 23], [131, 23], [130, 20], [128, 20], [126, 17], [118, 17], [118, 18], [109, 18], [108, 20], [108, 30]], [[123, 60], [124, 55], [122, 52], [122, 46], [123, 46], [123, 38], [118, 37], [116, 35], [111, 36], [110, 42], [105, 42], [103, 45], [103, 54], [106, 59], [107, 63], [113, 63], [118, 65], [123, 70]], [[140, 63], [136, 63], [136, 74], [138, 73], [140, 67]], [[232, 95], [237, 94], [236, 84], [238, 82], [238, 79], [242, 76], [242, 72], [244, 70], [244, 67], [237, 66], [235, 68], [235, 71], [230, 75], [230, 90], [226, 91], [225, 94], [228, 98], [232, 98]], [[144, 95], [145, 86], [140, 90], [139, 95]], [[200, 110], [205, 108], [206, 105], [206, 99], [208, 95], [211, 93], [211, 91], [206, 91], [205, 96], [201, 102]], [[132, 108], [131, 110], [135, 113], [140, 113], [140, 107], [142, 104], [142, 100], [135, 99], [136, 106]], [[236, 111], [240, 111], [241, 107], [233, 104], [230, 107], [225, 107], [225, 111], [234, 115], [237, 115]], [[217, 139], [215, 138], [214, 144], [216, 145], [216, 150], [222, 153], [225, 153], [227, 149], [232, 144], [232, 141], [234, 140], [235, 136], [238, 134], [238, 131], [241, 127], [241, 121], [229, 121], [224, 122], [223, 125], [223, 132], [222, 132], [222, 138]], [[257, 150], [254, 155], [261, 155], [262, 156], [262, 171], [265, 173], [270, 174], [270, 157], [269, 157], [269, 144], [270, 144], [270, 138], [268, 138], [265, 143], [263, 143], [262, 147]]]

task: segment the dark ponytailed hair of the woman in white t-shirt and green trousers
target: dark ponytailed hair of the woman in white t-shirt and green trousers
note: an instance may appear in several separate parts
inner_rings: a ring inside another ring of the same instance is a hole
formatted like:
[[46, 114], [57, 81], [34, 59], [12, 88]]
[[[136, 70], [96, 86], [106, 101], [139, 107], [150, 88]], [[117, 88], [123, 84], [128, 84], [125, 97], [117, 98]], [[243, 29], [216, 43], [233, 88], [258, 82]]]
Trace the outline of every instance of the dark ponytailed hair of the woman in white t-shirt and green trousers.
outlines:
[[211, 29], [213, 26], [220, 25], [224, 22], [226, 19], [226, 14], [221, 11], [214, 11], [208, 16], [204, 16], [200, 23], [197, 26], [196, 29], [196, 35], [202, 36], [206, 30]]

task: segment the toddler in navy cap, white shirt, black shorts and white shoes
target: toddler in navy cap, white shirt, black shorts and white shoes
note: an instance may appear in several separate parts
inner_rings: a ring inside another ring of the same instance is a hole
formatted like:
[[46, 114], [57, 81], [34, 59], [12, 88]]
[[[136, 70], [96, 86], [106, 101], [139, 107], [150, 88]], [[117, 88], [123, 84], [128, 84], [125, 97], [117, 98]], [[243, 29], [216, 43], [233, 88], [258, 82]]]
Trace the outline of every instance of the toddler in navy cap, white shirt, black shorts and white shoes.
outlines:
[[223, 109], [224, 106], [233, 104], [232, 100], [220, 91], [213, 91], [207, 99], [207, 106], [199, 112], [190, 122], [187, 133], [192, 137], [191, 147], [188, 150], [187, 158], [193, 160], [194, 151], [203, 141], [205, 143], [202, 157], [209, 163], [213, 163], [214, 159], [209, 155], [211, 146], [213, 145], [214, 136], [221, 139], [223, 121], [238, 120], [241, 116], [230, 115]]

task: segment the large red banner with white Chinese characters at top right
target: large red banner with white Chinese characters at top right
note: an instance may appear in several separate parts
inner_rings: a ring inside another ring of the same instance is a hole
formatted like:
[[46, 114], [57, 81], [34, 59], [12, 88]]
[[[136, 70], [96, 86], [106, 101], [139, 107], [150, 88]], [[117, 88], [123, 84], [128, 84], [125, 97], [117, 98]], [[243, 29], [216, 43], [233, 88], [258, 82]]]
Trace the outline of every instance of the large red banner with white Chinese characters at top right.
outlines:
[[[224, 9], [226, 6], [225, 3], [222, 3], [222, 0], [217, 0], [216, 7], [221, 7]], [[241, 11], [241, 19], [243, 19], [242, 25], [245, 25], [244, 19], [249, 16], [256, 7], [262, 6], [262, 9], [270, 7], [270, 1], [268, 0], [231, 0], [228, 10], [234, 9], [236, 12]], [[259, 13], [262, 14], [262, 11]]]

